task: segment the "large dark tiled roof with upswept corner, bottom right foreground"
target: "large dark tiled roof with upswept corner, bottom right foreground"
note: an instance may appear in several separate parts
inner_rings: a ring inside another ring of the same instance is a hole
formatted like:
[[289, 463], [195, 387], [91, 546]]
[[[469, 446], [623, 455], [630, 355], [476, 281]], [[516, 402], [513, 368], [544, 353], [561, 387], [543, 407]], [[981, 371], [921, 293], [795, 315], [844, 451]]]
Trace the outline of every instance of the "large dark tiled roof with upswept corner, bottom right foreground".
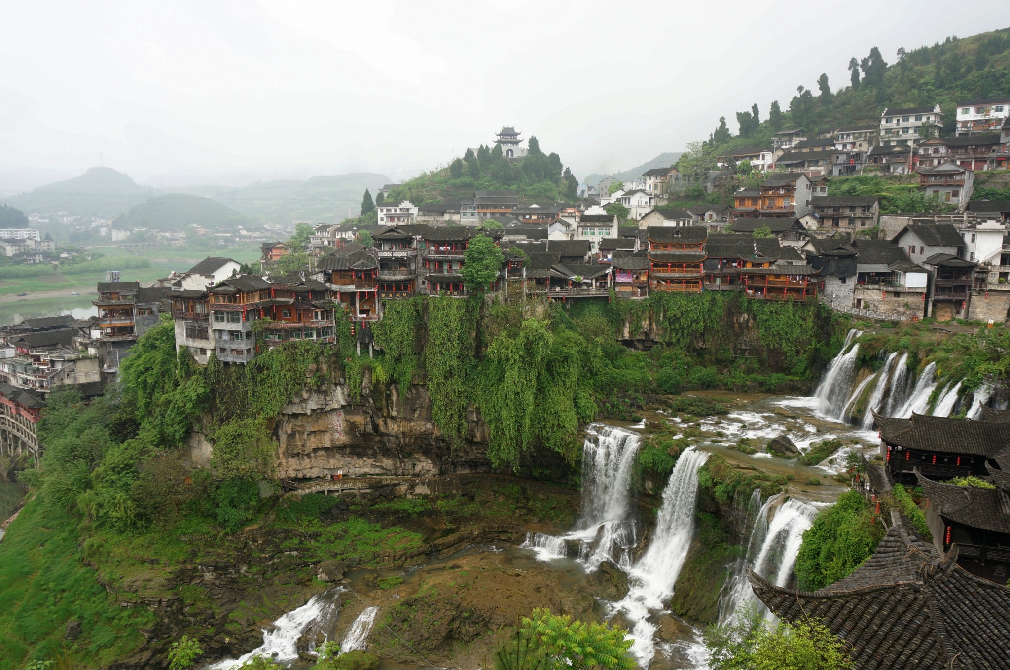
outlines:
[[1010, 659], [1010, 588], [970, 574], [909, 538], [897, 516], [874, 555], [819, 591], [775, 586], [752, 571], [754, 593], [782, 619], [820, 620], [858, 670], [982, 670]]

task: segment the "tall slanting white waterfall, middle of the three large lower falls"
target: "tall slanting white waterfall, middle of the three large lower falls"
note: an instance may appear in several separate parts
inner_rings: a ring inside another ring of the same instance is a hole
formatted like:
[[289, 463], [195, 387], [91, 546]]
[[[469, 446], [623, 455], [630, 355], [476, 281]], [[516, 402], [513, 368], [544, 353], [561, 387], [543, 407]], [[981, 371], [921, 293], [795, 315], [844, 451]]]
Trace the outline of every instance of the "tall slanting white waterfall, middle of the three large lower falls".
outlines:
[[648, 617], [652, 611], [665, 608], [687, 559], [694, 535], [698, 469], [706, 460], [708, 452], [694, 447], [686, 449], [677, 459], [663, 491], [663, 506], [656, 518], [652, 541], [644, 555], [628, 569], [630, 589], [613, 608], [613, 612], [625, 612], [629, 623], [634, 622], [630, 635], [634, 640], [631, 653], [646, 670], [655, 653], [652, 636], [656, 629]]

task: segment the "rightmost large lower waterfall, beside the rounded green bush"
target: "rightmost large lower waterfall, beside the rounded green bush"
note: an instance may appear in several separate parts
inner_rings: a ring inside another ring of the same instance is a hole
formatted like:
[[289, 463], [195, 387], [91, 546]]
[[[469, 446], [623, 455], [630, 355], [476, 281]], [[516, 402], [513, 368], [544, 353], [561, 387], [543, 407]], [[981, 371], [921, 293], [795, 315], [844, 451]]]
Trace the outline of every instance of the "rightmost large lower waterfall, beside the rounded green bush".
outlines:
[[777, 586], [786, 586], [792, 577], [803, 534], [817, 516], [817, 508], [795, 497], [783, 502], [784, 497], [785, 493], [778, 493], [762, 506], [750, 531], [743, 566], [734, 575], [733, 585], [719, 603], [721, 626], [732, 625], [739, 612], [751, 606], [766, 611], [750, 588], [745, 568], [750, 568]]

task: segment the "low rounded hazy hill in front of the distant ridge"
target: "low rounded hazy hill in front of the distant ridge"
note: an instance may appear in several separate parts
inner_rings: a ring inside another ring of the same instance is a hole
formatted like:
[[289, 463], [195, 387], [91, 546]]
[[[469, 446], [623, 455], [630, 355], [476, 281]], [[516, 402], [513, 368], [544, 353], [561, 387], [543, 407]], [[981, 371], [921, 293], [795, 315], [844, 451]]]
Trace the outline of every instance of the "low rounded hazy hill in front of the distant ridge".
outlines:
[[238, 212], [210, 198], [185, 193], [169, 193], [129, 208], [112, 222], [114, 228], [158, 228], [185, 230], [188, 226], [216, 228], [247, 223]]

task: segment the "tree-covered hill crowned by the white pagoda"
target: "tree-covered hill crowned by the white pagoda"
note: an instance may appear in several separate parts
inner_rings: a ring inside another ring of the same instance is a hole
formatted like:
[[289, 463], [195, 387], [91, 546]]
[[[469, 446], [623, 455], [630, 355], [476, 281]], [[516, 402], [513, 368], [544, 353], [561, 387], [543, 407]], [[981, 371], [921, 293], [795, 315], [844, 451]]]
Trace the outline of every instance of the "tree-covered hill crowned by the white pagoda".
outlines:
[[536, 137], [531, 136], [528, 145], [526, 156], [514, 161], [502, 155], [499, 144], [467, 149], [463, 158], [447, 166], [404, 182], [389, 199], [423, 205], [473, 198], [475, 190], [515, 190], [524, 202], [575, 201], [579, 180], [562, 164], [561, 156], [544, 153]]

